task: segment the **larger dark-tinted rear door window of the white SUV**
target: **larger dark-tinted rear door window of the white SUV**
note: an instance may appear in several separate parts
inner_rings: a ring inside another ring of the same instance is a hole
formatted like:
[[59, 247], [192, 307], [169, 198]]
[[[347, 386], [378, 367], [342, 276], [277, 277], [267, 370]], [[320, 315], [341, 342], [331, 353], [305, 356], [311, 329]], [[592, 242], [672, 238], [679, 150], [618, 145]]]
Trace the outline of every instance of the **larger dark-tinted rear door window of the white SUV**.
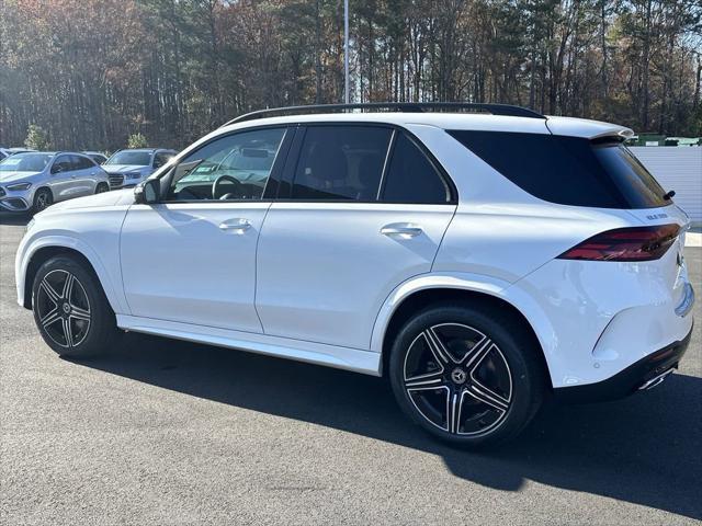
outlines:
[[393, 130], [310, 126], [295, 169], [297, 201], [376, 201]]

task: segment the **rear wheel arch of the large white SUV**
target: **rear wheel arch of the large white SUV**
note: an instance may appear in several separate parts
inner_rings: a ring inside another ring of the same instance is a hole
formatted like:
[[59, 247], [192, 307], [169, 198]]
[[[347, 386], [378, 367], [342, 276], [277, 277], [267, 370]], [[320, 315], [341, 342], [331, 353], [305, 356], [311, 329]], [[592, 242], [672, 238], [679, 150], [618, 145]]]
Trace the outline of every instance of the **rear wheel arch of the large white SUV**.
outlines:
[[[434, 281], [437, 281], [434, 278]], [[543, 368], [544, 377], [548, 379], [548, 387], [553, 384], [550, 376], [547, 354], [548, 348], [540, 338], [534, 324], [524, 316], [513, 301], [508, 300], [498, 286], [472, 286], [469, 283], [455, 283], [453, 278], [441, 283], [439, 279], [433, 286], [417, 286], [399, 298], [389, 298], [384, 309], [378, 315], [378, 320], [373, 331], [372, 348], [382, 353], [380, 363], [381, 376], [387, 370], [393, 340], [401, 327], [414, 313], [431, 305], [455, 301], [471, 305], [484, 305], [498, 309], [508, 321], [518, 323], [524, 330], [525, 335], [532, 341], [536, 351], [535, 358]], [[511, 298], [510, 298], [511, 299]], [[388, 307], [389, 306], [389, 307]], [[385, 311], [385, 312], [383, 312]], [[537, 324], [547, 324], [547, 320], [539, 320]], [[540, 329], [544, 329], [541, 327]]]

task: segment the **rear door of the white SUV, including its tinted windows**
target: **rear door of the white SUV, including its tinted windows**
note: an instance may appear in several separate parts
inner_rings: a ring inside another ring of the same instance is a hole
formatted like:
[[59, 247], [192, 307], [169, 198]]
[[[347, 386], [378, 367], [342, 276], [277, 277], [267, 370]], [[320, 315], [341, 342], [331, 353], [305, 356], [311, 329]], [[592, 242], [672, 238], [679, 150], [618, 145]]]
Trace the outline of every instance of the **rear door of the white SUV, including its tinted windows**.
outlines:
[[455, 191], [399, 129], [315, 125], [296, 142], [259, 239], [258, 313], [267, 334], [369, 348], [390, 291], [431, 270]]

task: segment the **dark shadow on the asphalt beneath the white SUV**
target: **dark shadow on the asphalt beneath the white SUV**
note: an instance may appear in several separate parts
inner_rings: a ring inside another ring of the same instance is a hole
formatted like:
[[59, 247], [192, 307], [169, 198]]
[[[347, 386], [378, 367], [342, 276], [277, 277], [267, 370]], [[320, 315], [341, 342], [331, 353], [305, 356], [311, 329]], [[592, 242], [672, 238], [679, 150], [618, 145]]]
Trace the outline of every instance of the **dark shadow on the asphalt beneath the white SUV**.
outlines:
[[701, 378], [673, 375], [657, 389], [605, 404], [550, 404], [516, 442], [475, 454], [414, 426], [381, 378], [158, 338], [125, 339], [123, 351], [84, 365], [428, 451], [454, 476], [502, 491], [531, 480], [702, 518]]

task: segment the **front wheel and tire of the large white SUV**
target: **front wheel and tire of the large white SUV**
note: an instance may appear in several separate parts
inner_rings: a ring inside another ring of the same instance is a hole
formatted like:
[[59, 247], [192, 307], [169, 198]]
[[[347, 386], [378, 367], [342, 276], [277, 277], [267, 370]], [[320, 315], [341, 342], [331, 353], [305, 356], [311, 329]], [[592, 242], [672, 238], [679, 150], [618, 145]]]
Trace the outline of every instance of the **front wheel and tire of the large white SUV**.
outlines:
[[92, 268], [70, 255], [52, 258], [38, 268], [32, 284], [32, 310], [42, 338], [60, 356], [103, 354], [118, 332]]

